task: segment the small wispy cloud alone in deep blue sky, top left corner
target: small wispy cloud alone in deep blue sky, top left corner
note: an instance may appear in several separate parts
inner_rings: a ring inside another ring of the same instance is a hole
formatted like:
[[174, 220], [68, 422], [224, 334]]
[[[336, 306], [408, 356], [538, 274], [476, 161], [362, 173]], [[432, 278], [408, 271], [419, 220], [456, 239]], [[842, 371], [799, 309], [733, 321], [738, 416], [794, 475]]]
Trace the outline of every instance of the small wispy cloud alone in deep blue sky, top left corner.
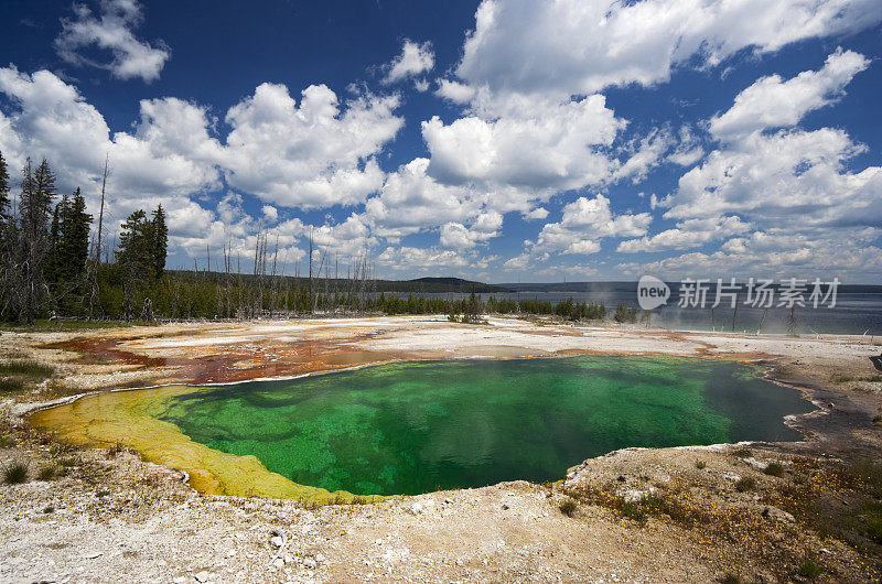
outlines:
[[[137, 0], [101, 0], [100, 15], [93, 14], [84, 4], [74, 4], [74, 19], [62, 20], [62, 33], [55, 39], [55, 50], [64, 61], [105, 68], [120, 79], [159, 78], [171, 51], [162, 41], [153, 46], [135, 36], [132, 29], [142, 20]], [[85, 56], [83, 50], [93, 45], [109, 51], [112, 61], [104, 63]]]

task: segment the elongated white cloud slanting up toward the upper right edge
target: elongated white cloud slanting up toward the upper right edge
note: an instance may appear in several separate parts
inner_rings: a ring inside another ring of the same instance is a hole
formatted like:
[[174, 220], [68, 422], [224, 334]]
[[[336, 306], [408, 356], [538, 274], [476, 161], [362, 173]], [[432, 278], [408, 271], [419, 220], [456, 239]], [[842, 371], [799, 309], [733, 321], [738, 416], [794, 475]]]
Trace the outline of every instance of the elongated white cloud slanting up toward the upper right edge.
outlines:
[[807, 112], [842, 95], [852, 77], [870, 61], [853, 51], [838, 48], [820, 71], [805, 71], [792, 79], [763, 77], [741, 91], [729, 111], [710, 120], [710, 132], [732, 140], [764, 129], [796, 126]]

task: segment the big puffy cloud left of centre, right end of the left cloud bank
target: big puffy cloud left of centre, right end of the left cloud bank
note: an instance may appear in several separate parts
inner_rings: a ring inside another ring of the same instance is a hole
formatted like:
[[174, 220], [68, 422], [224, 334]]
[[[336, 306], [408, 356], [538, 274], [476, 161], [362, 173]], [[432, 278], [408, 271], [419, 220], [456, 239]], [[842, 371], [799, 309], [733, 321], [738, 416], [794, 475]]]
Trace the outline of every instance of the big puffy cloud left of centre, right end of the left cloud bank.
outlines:
[[324, 85], [304, 89], [298, 105], [286, 86], [261, 84], [227, 112], [227, 182], [283, 206], [362, 203], [383, 185], [374, 156], [404, 123], [398, 104], [367, 95], [341, 112]]

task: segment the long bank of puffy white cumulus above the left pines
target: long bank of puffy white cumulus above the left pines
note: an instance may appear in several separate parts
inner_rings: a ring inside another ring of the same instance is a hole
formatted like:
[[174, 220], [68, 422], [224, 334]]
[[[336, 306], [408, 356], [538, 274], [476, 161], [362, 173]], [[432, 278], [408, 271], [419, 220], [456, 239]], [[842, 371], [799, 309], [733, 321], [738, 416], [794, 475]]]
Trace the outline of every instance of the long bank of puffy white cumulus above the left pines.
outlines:
[[[372, 156], [401, 125], [391, 113], [397, 98], [362, 96], [341, 112], [336, 96], [324, 86], [305, 89], [299, 105], [281, 86], [258, 87], [255, 96], [230, 108], [233, 130], [225, 142], [215, 136], [215, 120], [205, 107], [178, 98], [141, 100], [132, 129], [111, 132], [75, 87], [50, 72], [0, 68], [0, 94], [7, 98], [0, 110], [0, 151], [11, 169], [21, 167], [29, 155], [45, 156], [58, 175], [58, 190], [82, 187], [95, 214], [107, 158], [110, 232], [129, 213], [162, 204], [175, 248], [200, 257], [206, 245], [213, 253], [226, 246], [237, 252], [252, 248], [256, 232], [279, 218], [270, 204], [260, 217], [249, 216], [238, 194], [206, 208], [200, 204], [206, 192], [226, 182], [283, 206], [364, 201], [384, 183]], [[276, 229], [287, 234], [280, 249], [299, 257], [293, 246], [306, 226], [286, 221]], [[357, 216], [318, 226], [314, 236], [341, 255], [376, 242]]]

